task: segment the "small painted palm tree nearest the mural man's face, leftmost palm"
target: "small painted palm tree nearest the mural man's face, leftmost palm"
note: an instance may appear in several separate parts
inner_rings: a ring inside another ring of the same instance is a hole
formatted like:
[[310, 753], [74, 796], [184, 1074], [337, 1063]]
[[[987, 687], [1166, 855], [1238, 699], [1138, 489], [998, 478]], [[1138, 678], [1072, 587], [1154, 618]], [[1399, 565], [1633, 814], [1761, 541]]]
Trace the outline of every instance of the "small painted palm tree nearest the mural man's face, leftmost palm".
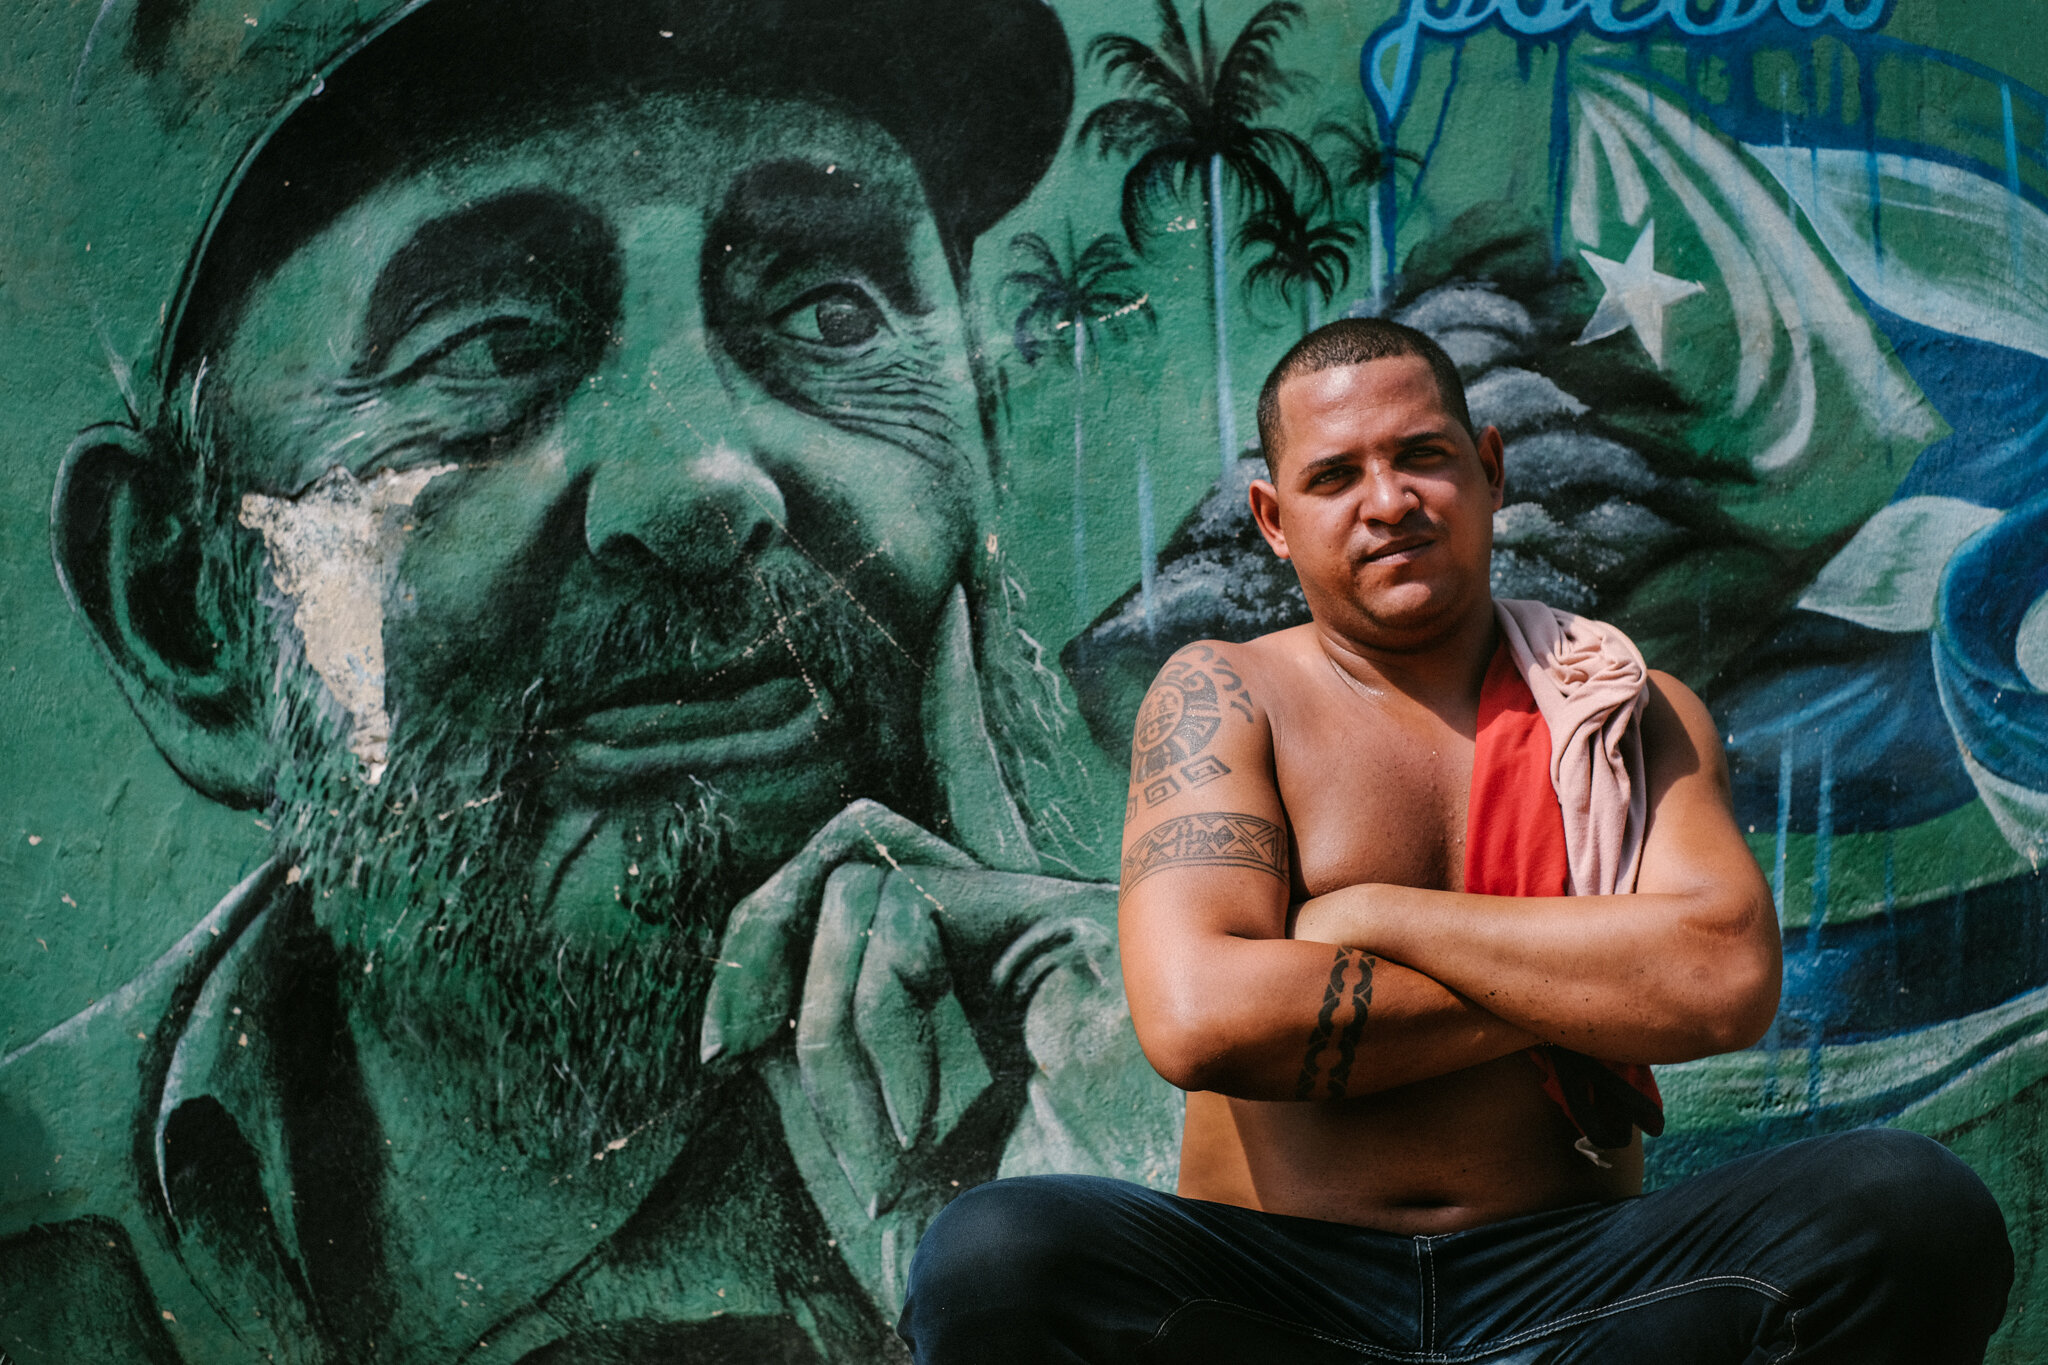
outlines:
[[[1024, 293], [1016, 317], [1016, 346], [1024, 364], [1038, 364], [1051, 348], [1073, 356], [1073, 600], [1085, 612], [1087, 602], [1087, 442], [1083, 405], [1087, 385], [1090, 336], [1120, 338], [1135, 323], [1153, 323], [1151, 297], [1130, 278], [1137, 262], [1116, 233], [1100, 233], [1075, 250], [1073, 225], [1067, 227], [1065, 256], [1034, 231], [1010, 239], [1010, 250], [1022, 266], [1004, 284]], [[1141, 499], [1147, 489], [1139, 489]], [[1139, 520], [1149, 510], [1139, 508]]]

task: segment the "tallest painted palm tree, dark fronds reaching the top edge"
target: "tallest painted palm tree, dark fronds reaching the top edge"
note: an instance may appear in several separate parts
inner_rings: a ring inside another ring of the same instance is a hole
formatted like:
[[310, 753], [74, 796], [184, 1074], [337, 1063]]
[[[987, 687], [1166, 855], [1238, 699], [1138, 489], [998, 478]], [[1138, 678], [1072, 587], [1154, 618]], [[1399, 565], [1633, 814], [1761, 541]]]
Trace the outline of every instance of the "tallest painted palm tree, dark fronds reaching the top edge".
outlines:
[[1231, 336], [1225, 254], [1229, 223], [1225, 199], [1251, 211], [1288, 199], [1284, 168], [1329, 192], [1329, 178], [1309, 143], [1294, 133], [1257, 123], [1270, 108], [1307, 84], [1300, 72], [1282, 70], [1274, 49], [1300, 23], [1298, 0], [1272, 0], [1217, 51], [1206, 4], [1196, 10], [1196, 41], [1174, 8], [1159, 4], [1159, 45], [1128, 33], [1090, 41], [1087, 61], [1120, 82], [1124, 98], [1098, 104], [1075, 141], [1094, 141], [1102, 156], [1135, 156], [1124, 172], [1122, 223], [1130, 246], [1145, 250], [1153, 213], [1202, 186], [1210, 256], [1210, 307], [1217, 323], [1217, 438], [1223, 471], [1237, 460], [1237, 405], [1231, 393]]

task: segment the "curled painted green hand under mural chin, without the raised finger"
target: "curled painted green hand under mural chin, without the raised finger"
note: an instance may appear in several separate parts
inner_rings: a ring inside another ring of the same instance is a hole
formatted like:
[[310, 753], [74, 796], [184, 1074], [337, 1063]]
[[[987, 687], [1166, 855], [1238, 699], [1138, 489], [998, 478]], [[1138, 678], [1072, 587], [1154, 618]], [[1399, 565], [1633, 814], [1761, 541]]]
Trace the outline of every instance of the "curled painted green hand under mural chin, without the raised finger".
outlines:
[[[1096, 982], [1096, 1005], [1120, 1009], [1114, 974], [1079, 970], [1108, 952], [1110, 907], [1108, 888], [989, 872], [862, 802], [735, 911], [707, 1054], [762, 1076], [840, 1254], [887, 1314], [926, 1224], [1006, 1158], [1036, 995]], [[1049, 1064], [1073, 1052], [1044, 1050]], [[999, 1113], [979, 1103], [997, 1072], [1016, 1089]]]

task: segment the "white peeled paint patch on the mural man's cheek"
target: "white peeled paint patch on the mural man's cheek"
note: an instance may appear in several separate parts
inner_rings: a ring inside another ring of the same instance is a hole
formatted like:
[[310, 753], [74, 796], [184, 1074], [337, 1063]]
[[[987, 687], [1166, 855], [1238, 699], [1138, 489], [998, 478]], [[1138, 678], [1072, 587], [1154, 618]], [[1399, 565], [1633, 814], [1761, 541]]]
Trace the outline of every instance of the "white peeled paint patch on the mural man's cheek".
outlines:
[[420, 489], [451, 469], [383, 469], [369, 479], [332, 469], [297, 497], [242, 497], [242, 524], [262, 532], [270, 575], [291, 598], [305, 659], [348, 712], [348, 751], [373, 786], [391, 751], [383, 704], [385, 591], [397, 577], [406, 514]]

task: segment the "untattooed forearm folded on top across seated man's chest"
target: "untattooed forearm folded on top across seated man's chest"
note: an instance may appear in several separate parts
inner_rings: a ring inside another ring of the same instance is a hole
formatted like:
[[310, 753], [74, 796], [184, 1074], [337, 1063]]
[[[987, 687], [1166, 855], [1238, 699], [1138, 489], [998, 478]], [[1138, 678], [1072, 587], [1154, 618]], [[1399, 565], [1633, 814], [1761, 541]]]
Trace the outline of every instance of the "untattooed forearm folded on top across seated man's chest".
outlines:
[[1755, 1042], [1776, 962], [1737, 894], [1475, 896], [1350, 886], [1303, 902], [1294, 937], [1403, 962], [1542, 1042], [1679, 1062]]

